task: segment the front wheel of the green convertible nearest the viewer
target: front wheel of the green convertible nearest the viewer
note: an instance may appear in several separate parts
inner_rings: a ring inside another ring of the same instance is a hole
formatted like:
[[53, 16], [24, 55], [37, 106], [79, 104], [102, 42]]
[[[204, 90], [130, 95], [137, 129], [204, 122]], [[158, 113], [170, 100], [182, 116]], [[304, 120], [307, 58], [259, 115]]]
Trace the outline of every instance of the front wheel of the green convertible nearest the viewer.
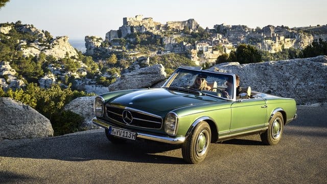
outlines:
[[211, 142], [210, 126], [202, 121], [186, 138], [182, 145], [183, 159], [190, 164], [197, 164], [206, 157]]

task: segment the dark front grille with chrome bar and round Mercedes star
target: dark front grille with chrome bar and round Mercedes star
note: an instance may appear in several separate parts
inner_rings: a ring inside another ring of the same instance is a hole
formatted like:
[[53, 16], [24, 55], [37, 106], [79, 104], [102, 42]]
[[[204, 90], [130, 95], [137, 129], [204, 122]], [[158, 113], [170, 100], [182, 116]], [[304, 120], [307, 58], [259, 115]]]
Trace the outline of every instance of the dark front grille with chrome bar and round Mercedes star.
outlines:
[[110, 119], [129, 126], [152, 129], [160, 129], [162, 126], [161, 117], [141, 110], [129, 107], [107, 105], [106, 112], [107, 117]]

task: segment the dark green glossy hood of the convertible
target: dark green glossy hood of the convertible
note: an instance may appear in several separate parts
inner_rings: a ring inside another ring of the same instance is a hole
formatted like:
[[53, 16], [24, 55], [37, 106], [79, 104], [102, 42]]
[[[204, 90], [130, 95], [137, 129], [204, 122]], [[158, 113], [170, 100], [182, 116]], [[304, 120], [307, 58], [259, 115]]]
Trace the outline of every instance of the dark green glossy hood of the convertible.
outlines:
[[181, 93], [167, 88], [137, 90], [110, 101], [111, 104], [152, 112], [166, 112], [179, 107], [211, 102], [217, 102], [217, 99]]

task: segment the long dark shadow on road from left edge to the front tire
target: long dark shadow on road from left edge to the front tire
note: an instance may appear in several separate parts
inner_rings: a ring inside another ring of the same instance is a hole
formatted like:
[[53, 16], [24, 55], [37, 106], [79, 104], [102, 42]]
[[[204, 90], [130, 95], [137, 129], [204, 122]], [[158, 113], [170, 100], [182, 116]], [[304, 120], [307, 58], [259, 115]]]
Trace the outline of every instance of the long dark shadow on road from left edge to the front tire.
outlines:
[[137, 163], [185, 164], [178, 145], [143, 141], [128, 141], [125, 144], [115, 145], [110, 143], [102, 132], [2, 141], [0, 156], [76, 162], [103, 159]]

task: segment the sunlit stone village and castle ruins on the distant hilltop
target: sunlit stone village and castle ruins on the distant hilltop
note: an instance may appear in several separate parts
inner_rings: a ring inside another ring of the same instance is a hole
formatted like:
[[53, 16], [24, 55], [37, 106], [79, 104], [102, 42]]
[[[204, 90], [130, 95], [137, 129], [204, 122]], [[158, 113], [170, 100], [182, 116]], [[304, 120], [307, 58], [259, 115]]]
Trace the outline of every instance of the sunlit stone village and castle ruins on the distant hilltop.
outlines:
[[[192, 33], [204, 31], [205, 39], [188, 42]], [[151, 33], [160, 38], [162, 50], [153, 51], [154, 54], [169, 54], [188, 52], [192, 61], [197, 65], [215, 63], [217, 57], [229, 54], [237, 45], [251, 44], [256, 48], [276, 53], [283, 49], [302, 49], [317, 37], [305, 32], [297, 32], [286, 26], [266, 26], [264, 28], [248, 28], [247, 26], [214, 25], [214, 29], [203, 29], [194, 19], [185, 21], [168, 21], [166, 24], [155, 22], [153, 18], [144, 18], [143, 15], [123, 18], [123, 25], [118, 30], [106, 33], [105, 40], [100, 37], [85, 37], [86, 54], [94, 54], [94, 49], [101, 47], [102, 42], [117, 44], [118, 39], [130, 39], [130, 34]], [[325, 35], [323, 35], [325, 37]], [[108, 47], [110, 50], [111, 48]], [[130, 53], [135, 54], [135, 53]]]

